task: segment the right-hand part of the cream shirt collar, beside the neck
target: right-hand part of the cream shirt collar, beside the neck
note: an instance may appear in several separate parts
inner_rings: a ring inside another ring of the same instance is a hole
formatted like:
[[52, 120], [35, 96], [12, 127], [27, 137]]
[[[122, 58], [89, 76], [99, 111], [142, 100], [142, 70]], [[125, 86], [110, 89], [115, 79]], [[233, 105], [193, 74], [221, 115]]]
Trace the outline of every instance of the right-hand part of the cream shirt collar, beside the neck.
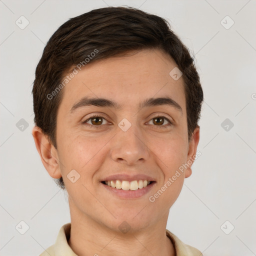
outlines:
[[183, 243], [176, 235], [167, 229], [166, 235], [170, 238], [175, 247], [176, 256], [202, 256], [202, 253], [198, 249]]

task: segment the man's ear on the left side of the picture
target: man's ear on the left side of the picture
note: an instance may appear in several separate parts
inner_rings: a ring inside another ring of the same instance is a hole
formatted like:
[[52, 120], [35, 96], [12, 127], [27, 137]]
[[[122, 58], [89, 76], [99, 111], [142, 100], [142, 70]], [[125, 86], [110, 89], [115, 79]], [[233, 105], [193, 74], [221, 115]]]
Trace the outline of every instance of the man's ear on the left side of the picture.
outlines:
[[61, 172], [58, 163], [57, 149], [52, 145], [48, 136], [45, 135], [38, 126], [33, 127], [32, 135], [44, 168], [48, 171], [51, 177], [60, 178]]

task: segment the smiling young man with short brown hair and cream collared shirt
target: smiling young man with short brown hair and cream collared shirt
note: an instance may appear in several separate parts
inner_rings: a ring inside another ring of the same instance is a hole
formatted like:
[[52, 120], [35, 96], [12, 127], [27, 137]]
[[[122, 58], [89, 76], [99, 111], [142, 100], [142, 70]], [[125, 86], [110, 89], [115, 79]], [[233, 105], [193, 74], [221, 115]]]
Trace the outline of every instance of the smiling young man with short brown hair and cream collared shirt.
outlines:
[[165, 228], [198, 155], [202, 99], [164, 19], [107, 7], [61, 25], [36, 67], [32, 134], [71, 223], [41, 255], [200, 255]]

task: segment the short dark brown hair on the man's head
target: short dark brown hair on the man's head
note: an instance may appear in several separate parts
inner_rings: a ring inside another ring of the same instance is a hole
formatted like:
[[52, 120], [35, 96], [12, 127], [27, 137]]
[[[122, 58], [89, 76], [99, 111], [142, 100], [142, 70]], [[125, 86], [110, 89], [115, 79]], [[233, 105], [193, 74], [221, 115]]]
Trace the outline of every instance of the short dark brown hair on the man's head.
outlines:
[[[98, 53], [90, 58], [90, 62], [129, 50], [148, 48], [168, 54], [183, 73], [190, 139], [197, 126], [203, 100], [193, 58], [165, 19], [132, 7], [93, 9], [69, 19], [53, 33], [35, 70], [32, 89], [35, 125], [57, 148], [56, 116], [63, 83], [60, 85], [67, 71], [73, 65], [86, 62], [85, 58], [95, 49]], [[62, 177], [57, 184], [64, 188]]]

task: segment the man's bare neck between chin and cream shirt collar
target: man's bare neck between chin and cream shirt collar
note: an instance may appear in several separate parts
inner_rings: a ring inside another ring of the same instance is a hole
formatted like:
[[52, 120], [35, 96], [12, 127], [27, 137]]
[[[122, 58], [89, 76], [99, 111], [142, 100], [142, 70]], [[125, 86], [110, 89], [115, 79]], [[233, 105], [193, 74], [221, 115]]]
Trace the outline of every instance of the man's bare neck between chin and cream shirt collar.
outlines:
[[[70, 205], [71, 206], [71, 205]], [[99, 223], [88, 215], [70, 207], [71, 230], [69, 246], [79, 256], [162, 255], [174, 256], [175, 251], [166, 236], [167, 217], [161, 221], [123, 233]]]

